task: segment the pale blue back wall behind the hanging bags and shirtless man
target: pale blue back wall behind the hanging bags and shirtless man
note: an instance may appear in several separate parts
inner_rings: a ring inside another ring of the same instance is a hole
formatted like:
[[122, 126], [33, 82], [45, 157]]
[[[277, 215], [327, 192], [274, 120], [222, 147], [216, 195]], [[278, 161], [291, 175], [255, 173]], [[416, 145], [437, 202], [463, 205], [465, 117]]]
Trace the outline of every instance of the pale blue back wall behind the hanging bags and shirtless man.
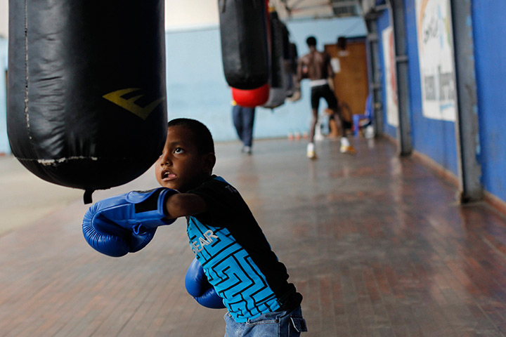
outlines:
[[[314, 35], [318, 48], [335, 44], [337, 37], [364, 37], [361, 18], [286, 22], [299, 55], [309, 50], [306, 38]], [[169, 119], [199, 119], [216, 140], [235, 140], [231, 117], [231, 90], [223, 77], [219, 27], [167, 32], [167, 102]], [[289, 131], [309, 130], [309, 83], [302, 81], [302, 99], [276, 108], [257, 108], [254, 138], [285, 137]], [[322, 104], [323, 106], [325, 103]], [[322, 107], [323, 109], [323, 107]]]

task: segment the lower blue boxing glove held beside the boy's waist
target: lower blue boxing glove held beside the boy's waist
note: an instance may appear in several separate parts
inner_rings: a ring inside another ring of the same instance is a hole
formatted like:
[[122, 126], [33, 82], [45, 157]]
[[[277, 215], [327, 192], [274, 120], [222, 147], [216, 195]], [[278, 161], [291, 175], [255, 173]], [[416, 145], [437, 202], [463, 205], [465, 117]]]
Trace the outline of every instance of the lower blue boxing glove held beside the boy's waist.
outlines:
[[186, 291], [195, 300], [206, 308], [223, 309], [223, 298], [221, 298], [214, 287], [207, 281], [204, 269], [197, 258], [194, 258], [185, 277]]

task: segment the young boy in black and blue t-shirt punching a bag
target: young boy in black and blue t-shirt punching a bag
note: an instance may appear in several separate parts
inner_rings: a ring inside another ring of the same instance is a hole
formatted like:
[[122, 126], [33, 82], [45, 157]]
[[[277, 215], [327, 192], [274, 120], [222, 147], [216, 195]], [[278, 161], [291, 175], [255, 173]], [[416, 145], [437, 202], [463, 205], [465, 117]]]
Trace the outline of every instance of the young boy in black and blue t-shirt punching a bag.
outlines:
[[[135, 214], [129, 217], [139, 216], [149, 209], [146, 204], [153, 198], [162, 200], [164, 218], [186, 217], [190, 247], [209, 283], [228, 309], [224, 317], [225, 336], [299, 336], [301, 331], [306, 331], [300, 308], [302, 296], [293, 284], [287, 282], [285, 265], [271, 251], [239, 192], [223, 178], [212, 175], [215, 162], [214, 142], [204, 124], [193, 119], [170, 121], [167, 143], [155, 164], [156, 178], [162, 187], [167, 188], [156, 192], [154, 197], [153, 194], [149, 197], [127, 194], [123, 199], [138, 202], [135, 211], [132, 211]], [[157, 197], [164, 193], [163, 197]], [[154, 204], [159, 203], [155, 201]], [[85, 216], [85, 222], [89, 218], [93, 219], [89, 223], [93, 223], [99, 217], [97, 214], [102, 212], [100, 214], [107, 218], [107, 223], [122, 223], [128, 213], [115, 211], [111, 216], [107, 213], [108, 209], [111, 207], [96, 207], [91, 210], [93, 214]], [[119, 213], [121, 215], [118, 216]], [[93, 223], [93, 226], [93, 231], [96, 231], [97, 225]], [[154, 235], [149, 223], [145, 225], [148, 230], [141, 226], [134, 225], [131, 229], [132, 236], [139, 234], [140, 239], [137, 236], [135, 240], [126, 239], [130, 251], [142, 249]], [[96, 241], [101, 239], [94, 239], [96, 233], [86, 234], [86, 231], [89, 230], [84, 228], [84, 235], [91, 246], [107, 253], [103, 248], [97, 248]]]

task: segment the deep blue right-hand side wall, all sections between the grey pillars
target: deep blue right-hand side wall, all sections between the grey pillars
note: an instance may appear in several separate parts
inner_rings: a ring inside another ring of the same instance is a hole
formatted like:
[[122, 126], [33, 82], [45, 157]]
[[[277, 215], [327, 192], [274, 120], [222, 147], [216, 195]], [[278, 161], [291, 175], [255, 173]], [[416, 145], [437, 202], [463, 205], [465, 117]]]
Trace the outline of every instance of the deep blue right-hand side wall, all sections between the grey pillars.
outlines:
[[[427, 119], [422, 114], [422, 91], [418, 60], [415, 0], [405, 1], [410, 83], [410, 121], [413, 148], [444, 169], [458, 175], [455, 123]], [[506, 201], [506, 15], [505, 1], [472, 1], [472, 25], [479, 115], [479, 161], [484, 189]], [[471, 22], [471, 20], [469, 20]], [[389, 12], [377, 20], [380, 62], [383, 65], [381, 32], [389, 25]], [[383, 70], [382, 76], [384, 78]], [[382, 81], [385, 86], [384, 80]], [[465, 93], [461, 93], [465, 94]], [[386, 98], [383, 94], [383, 101]], [[386, 107], [383, 110], [386, 121]], [[384, 124], [384, 133], [396, 137], [395, 128]]]

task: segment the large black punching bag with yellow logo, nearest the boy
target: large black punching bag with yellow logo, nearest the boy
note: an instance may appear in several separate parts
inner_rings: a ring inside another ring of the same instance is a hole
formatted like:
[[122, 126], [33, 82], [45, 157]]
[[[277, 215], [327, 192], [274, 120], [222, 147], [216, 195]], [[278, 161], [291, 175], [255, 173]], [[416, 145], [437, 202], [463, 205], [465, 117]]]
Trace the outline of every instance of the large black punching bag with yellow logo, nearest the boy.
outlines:
[[167, 135], [163, 0], [10, 0], [7, 128], [58, 185], [128, 183]]

